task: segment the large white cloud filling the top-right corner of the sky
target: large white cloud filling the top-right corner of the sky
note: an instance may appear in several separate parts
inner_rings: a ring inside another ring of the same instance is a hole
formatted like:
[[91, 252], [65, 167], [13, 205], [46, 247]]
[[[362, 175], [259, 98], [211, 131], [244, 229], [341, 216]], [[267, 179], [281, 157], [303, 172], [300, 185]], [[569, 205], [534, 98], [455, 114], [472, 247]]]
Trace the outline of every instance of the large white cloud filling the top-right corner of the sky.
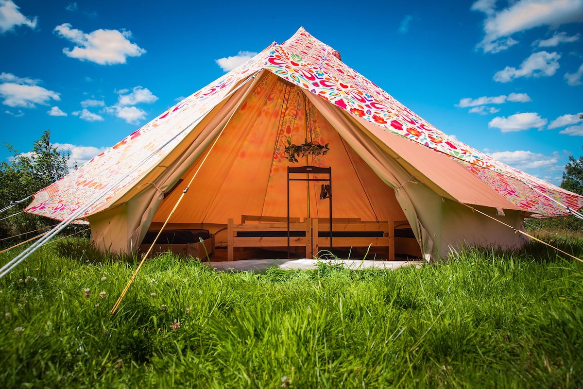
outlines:
[[479, 0], [472, 10], [486, 14], [484, 39], [478, 44], [484, 52], [498, 52], [518, 43], [511, 36], [534, 27], [583, 21], [583, 0], [518, 0], [496, 10], [496, 2]]

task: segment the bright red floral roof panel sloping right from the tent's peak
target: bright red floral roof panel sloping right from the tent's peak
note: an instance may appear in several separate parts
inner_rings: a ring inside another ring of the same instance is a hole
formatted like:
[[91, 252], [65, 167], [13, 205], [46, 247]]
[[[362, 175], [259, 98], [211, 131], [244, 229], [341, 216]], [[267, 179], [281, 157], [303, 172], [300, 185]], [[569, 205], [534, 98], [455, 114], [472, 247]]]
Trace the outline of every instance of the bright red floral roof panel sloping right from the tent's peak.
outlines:
[[346, 66], [333, 52], [300, 29], [286, 43], [272, 47], [265, 68], [379, 128], [449, 155], [528, 213], [567, 215], [566, 207], [578, 210], [583, 206], [583, 197], [511, 168], [447, 136]]

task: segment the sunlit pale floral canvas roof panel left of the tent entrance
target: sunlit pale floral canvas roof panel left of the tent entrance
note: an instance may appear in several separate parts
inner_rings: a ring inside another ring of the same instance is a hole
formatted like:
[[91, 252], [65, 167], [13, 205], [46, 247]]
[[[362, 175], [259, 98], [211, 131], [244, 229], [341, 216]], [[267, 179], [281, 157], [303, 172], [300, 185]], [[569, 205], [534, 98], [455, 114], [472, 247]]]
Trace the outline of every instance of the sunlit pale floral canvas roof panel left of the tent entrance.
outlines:
[[[244, 65], [185, 98], [115, 146], [37, 192], [26, 211], [65, 220], [80, 207], [79, 218], [107, 208], [152, 171], [242, 80], [256, 73], [268, 49]], [[99, 196], [99, 195], [102, 196]], [[96, 199], [99, 197], [99, 199]]]

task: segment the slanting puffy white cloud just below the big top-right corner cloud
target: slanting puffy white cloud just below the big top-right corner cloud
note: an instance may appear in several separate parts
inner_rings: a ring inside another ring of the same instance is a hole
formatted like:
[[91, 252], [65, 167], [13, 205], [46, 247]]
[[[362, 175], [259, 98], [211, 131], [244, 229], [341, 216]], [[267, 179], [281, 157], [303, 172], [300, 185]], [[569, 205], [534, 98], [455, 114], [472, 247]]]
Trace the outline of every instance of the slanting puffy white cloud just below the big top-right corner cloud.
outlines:
[[505, 83], [518, 77], [552, 76], [559, 69], [559, 58], [561, 58], [561, 55], [556, 52], [539, 51], [532, 53], [522, 61], [520, 68], [506, 66], [504, 70], [496, 72], [494, 81]]

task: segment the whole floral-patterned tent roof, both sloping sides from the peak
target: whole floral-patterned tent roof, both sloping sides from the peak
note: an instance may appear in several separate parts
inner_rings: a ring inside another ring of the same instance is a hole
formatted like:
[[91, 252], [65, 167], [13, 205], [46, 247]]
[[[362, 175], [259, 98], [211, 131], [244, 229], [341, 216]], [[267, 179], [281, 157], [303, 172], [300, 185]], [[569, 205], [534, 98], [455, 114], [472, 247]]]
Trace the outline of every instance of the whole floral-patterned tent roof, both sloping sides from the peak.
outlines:
[[[317, 94], [380, 129], [430, 147], [461, 163], [501, 196], [539, 217], [567, 215], [583, 197], [496, 161], [445, 135], [377, 84], [345, 65], [331, 47], [300, 28], [250, 61], [185, 98], [109, 150], [40, 190], [26, 211], [57, 220], [104, 210], [152, 171], [211, 111], [262, 69]], [[568, 208], [567, 208], [568, 207]]]

